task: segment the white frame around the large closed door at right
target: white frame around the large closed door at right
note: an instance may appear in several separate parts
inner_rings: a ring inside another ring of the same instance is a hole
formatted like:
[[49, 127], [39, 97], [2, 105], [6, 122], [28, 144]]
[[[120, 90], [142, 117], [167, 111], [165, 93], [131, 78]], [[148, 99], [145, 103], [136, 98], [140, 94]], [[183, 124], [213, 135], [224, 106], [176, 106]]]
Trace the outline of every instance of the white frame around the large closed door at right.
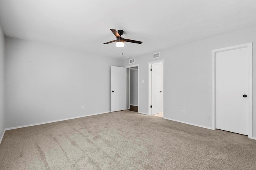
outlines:
[[216, 53], [248, 48], [248, 138], [252, 139], [252, 43], [212, 50], [212, 129], [216, 129]]

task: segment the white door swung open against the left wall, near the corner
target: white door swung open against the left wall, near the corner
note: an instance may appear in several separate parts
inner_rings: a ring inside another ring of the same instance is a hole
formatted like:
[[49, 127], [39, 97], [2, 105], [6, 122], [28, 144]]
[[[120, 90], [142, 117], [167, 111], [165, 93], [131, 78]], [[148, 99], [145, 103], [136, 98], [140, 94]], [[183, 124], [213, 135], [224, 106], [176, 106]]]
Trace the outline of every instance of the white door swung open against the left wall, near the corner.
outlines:
[[111, 66], [111, 111], [126, 109], [126, 68]]

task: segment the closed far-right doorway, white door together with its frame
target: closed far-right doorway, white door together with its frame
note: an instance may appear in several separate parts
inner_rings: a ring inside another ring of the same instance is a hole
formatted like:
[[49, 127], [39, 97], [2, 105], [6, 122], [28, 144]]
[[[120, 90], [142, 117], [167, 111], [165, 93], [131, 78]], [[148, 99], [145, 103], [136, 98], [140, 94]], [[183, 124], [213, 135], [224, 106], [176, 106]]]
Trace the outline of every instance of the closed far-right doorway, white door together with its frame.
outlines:
[[212, 125], [252, 138], [252, 43], [212, 51]]

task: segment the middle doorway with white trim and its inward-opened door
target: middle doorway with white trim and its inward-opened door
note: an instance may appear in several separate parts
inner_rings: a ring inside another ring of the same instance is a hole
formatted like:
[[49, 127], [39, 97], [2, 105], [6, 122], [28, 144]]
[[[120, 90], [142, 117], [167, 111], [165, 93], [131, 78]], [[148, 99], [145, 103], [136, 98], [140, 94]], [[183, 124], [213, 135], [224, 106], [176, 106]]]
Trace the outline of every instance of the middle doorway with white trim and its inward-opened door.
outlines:
[[148, 63], [148, 114], [164, 117], [164, 60]]

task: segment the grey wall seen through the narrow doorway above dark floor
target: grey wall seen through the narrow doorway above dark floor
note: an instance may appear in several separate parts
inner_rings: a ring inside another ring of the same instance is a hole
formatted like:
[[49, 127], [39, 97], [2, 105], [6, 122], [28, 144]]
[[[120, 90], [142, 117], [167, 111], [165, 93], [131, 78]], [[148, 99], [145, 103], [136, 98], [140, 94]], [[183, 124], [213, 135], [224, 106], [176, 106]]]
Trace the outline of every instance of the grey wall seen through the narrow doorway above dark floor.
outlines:
[[138, 70], [130, 70], [130, 105], [138, 106]]

